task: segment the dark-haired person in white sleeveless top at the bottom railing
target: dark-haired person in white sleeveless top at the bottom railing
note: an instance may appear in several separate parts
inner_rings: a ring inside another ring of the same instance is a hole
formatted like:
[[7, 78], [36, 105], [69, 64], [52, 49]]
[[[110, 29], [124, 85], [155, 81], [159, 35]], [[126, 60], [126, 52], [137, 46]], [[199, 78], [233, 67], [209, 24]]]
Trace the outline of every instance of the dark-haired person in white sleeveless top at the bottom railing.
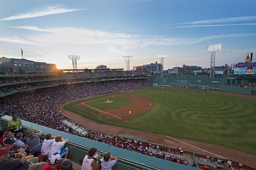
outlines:
[[[97, 152], [96, 148], [89, 149], [88, 155], [84, 156], [82, 170], [97, 170], [100, 168], [99, 155], [96, 152]], [[95, 155], [97, 158], [97, 162], [93, 159]]]

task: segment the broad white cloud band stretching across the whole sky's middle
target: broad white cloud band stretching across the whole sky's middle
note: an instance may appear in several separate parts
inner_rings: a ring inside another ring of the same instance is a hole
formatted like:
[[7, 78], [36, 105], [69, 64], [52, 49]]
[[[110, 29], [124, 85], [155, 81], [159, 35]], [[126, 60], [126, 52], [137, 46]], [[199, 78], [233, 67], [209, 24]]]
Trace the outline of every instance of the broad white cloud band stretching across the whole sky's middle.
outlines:
[[[122, 54], [125, 49], [144, 48], [154, 46], [172, 45], [193, 45], [211, 39], [222, 39], [232, 37], [246, 37], [255, 34], [219, 34], [207, 37], [188, 37], [181, 36], [159, 36], [159, 35], [135, 35], [124, 33], [111, 33], [101, 30], [88, 30], [82, 28], [48, 28], [41, 29], [34, 26], [12, 27], [15, 29], [29, 29], [40, 32], [27, 36], [25, 39], [18, 37], [0, 37], [0, 41], [13, 42], [20, 44], [33, 44], [43, 46], [69, 46], [73, 45], [99, 45], [116, 53]], [[44, 32], [44, 33], [42, 33]]]

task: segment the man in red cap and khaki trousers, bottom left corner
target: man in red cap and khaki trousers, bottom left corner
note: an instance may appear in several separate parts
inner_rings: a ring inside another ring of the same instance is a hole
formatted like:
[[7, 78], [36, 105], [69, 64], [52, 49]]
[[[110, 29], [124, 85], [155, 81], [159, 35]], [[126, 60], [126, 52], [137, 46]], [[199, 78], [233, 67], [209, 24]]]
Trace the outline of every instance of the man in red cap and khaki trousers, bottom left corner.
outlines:
[[27, 169], [42, 169], [46, 162], [38, 163], [38, 157], [26, 159], [26, 156], [22, 153], [9, 154], [8, 148], [0, 148], [0, 167], [1, 169], [16, 169], [16, 170], [27, 170]]

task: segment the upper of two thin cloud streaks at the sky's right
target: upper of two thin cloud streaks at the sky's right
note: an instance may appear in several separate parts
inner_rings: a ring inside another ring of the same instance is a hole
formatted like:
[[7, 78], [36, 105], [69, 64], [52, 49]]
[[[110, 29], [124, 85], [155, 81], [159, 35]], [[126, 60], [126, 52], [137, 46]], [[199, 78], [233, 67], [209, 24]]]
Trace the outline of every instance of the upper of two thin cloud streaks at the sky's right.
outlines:
[[217, 23], [217, 22], [238, 22], [238, 21], [250, 21], [250, 20], [256, 20], [256, 16], [207, 19], [207, 20], [201, 20], [201, 21], [195, 21], [195, 22], [177, 23], [177, 24], [209, 24], [209, 23]]

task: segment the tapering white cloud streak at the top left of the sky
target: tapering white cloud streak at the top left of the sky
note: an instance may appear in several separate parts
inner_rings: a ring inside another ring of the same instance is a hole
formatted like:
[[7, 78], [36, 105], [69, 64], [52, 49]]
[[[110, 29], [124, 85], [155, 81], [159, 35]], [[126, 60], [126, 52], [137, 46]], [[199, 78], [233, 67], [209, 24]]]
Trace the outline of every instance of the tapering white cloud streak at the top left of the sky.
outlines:
[[60, 13], [66, 13], [66, 12], [74, 12], [74, 11], [81, 11], [86, 10], [87, 8], [82, 9], [69, 9], [65, 8], [60, 4], [55, 5], [45, 5], [37, 9], [33, 9], [31, 12], [25, 12], [23, 14], [17, 14], [14, 16], [6, 17], [0, 19], [0, 21], [8, 21], [13, 19], [24, 19], [24, 18], [33, 18], [33, 17], [40, 17], [45, 15], [51, 15], [51, 14], [60, 14]]

